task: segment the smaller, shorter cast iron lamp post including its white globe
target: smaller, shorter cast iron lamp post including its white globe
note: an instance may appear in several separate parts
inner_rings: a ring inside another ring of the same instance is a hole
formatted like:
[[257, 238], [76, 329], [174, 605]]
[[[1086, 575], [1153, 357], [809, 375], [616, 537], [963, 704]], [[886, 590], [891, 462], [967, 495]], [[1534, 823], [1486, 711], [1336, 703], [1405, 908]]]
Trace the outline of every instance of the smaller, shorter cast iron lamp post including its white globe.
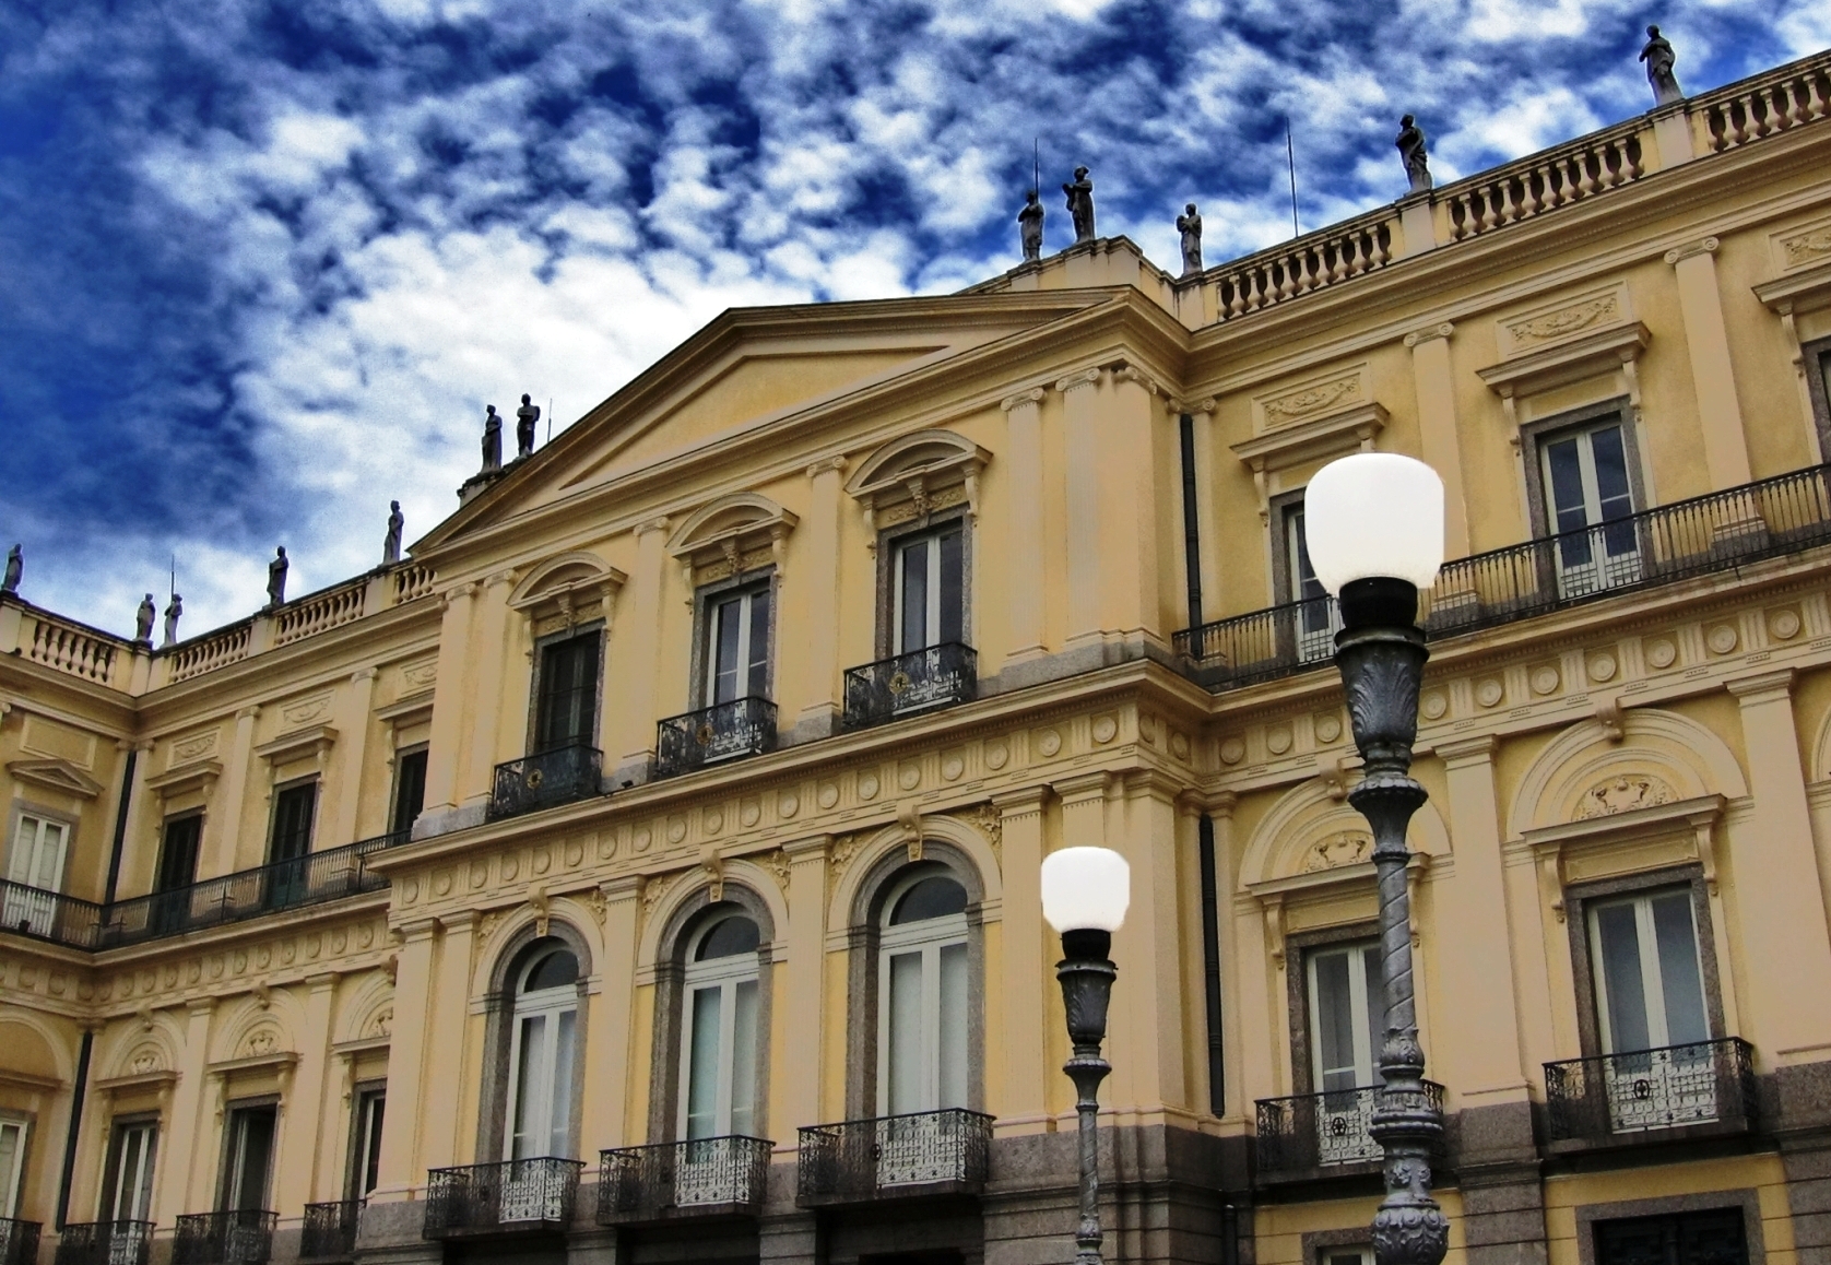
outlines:
[[1106, 1001], [1119, 968], [1108, 959], [1113, 932], [1126, 921], [1132, 903], [1132, 866], [1110, 848], [1062, 848], [1042, 862], [1042, 915], [1062, 935], [1062, 981], [1067, 1009], [1067, 1040], [1073, 1054], [1062, 1065], [1075, 1082], [1080, 1117], [1080, 1228], [1075, 1232], [1075, 1265], [1100, 1265], [1100, 1135], [1095, 1115], [1099, 1089], [1113, 1067], [1100, 1058], [1106, 1036]]

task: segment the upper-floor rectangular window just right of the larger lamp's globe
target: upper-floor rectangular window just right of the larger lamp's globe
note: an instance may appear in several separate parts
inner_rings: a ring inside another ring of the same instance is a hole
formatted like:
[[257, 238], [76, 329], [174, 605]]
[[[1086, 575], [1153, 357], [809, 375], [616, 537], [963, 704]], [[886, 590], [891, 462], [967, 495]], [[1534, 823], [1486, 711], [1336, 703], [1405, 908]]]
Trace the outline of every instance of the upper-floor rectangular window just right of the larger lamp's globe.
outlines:
[[1558, 538], [1558, 589], [1593, 593], [1641, 578], [1628, 445], [1619, 417], [1562, 430], [1538, 445], [1545, 520]]

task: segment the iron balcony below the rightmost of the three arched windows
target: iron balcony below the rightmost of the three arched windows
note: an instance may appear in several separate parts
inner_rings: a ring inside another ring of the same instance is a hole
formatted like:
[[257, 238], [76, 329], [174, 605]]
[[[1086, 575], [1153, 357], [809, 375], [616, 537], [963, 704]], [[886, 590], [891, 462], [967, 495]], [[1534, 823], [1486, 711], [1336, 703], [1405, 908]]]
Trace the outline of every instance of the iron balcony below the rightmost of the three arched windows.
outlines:
[[800, 1131], [795, 1203], [978, 1194], [991, 1146], [992, 1117], [959, 1108], [815, 1124]]

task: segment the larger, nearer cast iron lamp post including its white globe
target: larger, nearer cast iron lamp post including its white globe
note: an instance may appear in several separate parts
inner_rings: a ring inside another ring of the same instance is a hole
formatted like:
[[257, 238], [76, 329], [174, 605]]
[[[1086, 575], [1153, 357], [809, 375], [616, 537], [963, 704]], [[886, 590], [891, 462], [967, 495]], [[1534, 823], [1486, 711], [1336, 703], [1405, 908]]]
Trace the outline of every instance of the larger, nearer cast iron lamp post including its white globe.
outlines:
[[1450, 1238], [1430, 1197], [1430, 1151], [1443, 1135], [1443, 1113], [1425, 1089], [1417, 1043], [1404, 831], [1425, 802], [1425, 787], [1412, 778], [1417, 687], [1430, 654], [1417, 626], [1417, 591], [1443, 564], [1443, 480], [1392, 452], [1331, 461], [1304, 492], [1304, 529], [1316, 580], [1342, 611], [1335, 666], [1364, 767], [1348, 802], [1373, 827], [1379, 870], [1386, 1040], [1370, 1131], [1386, 1153], [1386, 1197], [1373, 1216], [1373, 1256], [1379, 1265], [1437, 1265]]

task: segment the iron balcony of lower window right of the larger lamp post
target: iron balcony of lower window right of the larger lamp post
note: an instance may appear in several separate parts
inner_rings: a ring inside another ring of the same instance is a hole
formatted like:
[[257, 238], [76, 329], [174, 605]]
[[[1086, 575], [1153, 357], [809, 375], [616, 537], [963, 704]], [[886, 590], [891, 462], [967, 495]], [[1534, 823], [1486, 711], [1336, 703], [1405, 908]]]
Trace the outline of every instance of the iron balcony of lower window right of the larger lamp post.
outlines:
[[1545, 1106], [1553, 1151], [1747, 1133], [1754, 1051], [1727, 1036], [1545, 1064]]

